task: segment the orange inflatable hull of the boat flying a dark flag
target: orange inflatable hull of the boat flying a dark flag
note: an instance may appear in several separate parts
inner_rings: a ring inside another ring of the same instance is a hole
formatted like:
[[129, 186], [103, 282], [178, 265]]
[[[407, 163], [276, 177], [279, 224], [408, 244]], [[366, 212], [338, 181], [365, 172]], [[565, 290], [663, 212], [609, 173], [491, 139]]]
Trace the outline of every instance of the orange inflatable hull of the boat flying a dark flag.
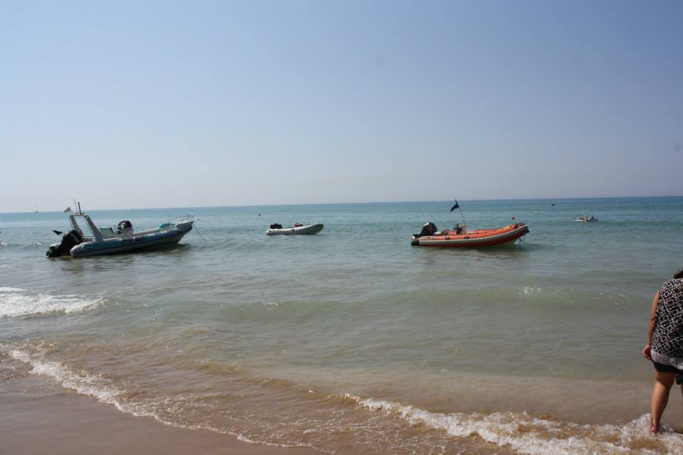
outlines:
[[524, 223], [517, 223], [504, 228], [475, 230], [462, 235], [456, 235], [455, 232], [443, 232], [440, 235], [413, 236], [411, 245], [415, 247], [492, 247], [514, 242], [527, 233], [529, 233], [528, 226]]

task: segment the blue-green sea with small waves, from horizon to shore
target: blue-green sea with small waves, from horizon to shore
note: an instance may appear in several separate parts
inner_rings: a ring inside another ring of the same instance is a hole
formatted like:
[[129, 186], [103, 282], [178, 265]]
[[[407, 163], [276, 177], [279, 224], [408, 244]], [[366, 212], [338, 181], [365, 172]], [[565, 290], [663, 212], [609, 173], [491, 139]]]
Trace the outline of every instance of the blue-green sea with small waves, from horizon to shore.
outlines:
[[[640, 350], [683, 268], [683, 198], [460, 201], [470, 229], [530, 233], [411, 247], [423, 223], [461, 221], [450, 205], [88, 210], [139, 229], [192, 213], [206, 242], [84, 259], [44, 257], [64, 213], [1, 214], [0, 374], [330, 453], [680, 450], [645, 432]], [[265, 236], [295, 221], [325, 228]]]

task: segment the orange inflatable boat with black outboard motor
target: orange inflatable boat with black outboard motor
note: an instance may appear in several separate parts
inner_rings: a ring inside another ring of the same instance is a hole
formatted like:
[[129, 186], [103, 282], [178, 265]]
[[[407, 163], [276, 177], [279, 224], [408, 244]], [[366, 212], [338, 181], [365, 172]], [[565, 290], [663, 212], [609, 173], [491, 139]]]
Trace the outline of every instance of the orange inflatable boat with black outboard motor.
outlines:
[[438, 232], [433, 223], [423, 226], [422, 232], [413, 235], [415, 247], [490, 247], [514, 242], [529, 233], [524, 223], [514, 223], [504, 228], [467, 230], [467, 225], [456, 225], [453, 230]]

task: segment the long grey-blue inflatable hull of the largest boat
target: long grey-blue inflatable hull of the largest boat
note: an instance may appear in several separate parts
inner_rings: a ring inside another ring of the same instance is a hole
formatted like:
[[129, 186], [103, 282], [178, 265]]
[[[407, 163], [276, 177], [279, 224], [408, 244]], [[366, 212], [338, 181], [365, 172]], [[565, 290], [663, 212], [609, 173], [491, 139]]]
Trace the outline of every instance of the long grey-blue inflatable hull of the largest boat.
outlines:
[[114, 238], [100, 242], [83, 242], [71, 248], [71, 257], [87, 257], [100, 255], [115, 255], [123, 252], [134, 252], [162, 245], [179, 242], [186, 233], [192, 230], [192, 222], [176, 225], [174, 228], [158, 232], [147, 232], [133, 235], [130, 238]]

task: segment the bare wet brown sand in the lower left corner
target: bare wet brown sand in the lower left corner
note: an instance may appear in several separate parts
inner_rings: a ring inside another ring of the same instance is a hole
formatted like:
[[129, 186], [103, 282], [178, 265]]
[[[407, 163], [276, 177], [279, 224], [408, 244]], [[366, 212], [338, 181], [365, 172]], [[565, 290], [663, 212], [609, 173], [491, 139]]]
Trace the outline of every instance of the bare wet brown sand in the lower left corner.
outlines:
[[319, 454], [310, 449], [248, 444], [226, 434], [169, 427], [56, 387], [54, 393], [43, 390], [36, 394], [22, 391], [16, 379], [9, 382], [11, 387], [0, 382], [2, 455]]

